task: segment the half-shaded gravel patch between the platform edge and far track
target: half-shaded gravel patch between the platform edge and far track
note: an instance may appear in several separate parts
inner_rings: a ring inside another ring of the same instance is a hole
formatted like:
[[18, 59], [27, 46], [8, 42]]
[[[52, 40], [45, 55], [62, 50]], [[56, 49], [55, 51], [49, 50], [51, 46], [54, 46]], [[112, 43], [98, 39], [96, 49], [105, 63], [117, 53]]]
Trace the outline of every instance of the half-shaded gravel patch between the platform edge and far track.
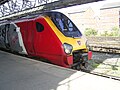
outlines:
[[91, 72], [120, 77], [119, 54], [93, 52], [92, 60], [89, 63]]

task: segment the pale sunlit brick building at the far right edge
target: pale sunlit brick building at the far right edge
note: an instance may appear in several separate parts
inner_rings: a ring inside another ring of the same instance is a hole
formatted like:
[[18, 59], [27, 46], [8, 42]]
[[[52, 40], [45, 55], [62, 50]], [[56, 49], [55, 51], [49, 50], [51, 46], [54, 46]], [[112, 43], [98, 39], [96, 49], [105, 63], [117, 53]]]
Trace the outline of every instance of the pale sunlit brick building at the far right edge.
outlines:
[[120, 2], [108, 3], [100, 9], [100, 31], [120, 27]]

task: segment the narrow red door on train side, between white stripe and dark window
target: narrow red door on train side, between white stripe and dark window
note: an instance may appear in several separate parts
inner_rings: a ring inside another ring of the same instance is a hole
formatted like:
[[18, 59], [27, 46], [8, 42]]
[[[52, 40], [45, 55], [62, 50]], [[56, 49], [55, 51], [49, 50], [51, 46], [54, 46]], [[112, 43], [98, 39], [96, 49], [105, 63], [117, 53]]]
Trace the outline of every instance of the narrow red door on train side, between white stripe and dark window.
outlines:
[[34, 33], [33, 33], [33, 21], [27, 22], [27, 30], [26, 30], [26, 42], [27, 42], [27, 52], [30, 55], [34, 55]]

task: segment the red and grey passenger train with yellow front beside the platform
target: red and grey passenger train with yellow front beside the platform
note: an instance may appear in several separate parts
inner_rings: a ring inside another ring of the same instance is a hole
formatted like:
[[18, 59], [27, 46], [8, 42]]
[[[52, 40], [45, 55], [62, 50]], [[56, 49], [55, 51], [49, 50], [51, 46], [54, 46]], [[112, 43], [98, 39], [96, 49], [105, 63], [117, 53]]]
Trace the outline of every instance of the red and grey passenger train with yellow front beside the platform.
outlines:
[[72, 20], [57, 11], [31, 14], [0, 24], [0, 48], [44, 58], [66, 68], [87, 67], [92, 58], [87, 44]]

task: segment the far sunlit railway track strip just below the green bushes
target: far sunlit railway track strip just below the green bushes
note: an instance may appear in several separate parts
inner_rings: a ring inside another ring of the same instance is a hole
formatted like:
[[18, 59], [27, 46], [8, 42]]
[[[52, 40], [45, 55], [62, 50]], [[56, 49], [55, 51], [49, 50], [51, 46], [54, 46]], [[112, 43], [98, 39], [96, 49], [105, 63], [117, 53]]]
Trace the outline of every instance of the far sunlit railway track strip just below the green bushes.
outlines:
[[120, 53], [120, 37], [87, 37], [91, 51]]

